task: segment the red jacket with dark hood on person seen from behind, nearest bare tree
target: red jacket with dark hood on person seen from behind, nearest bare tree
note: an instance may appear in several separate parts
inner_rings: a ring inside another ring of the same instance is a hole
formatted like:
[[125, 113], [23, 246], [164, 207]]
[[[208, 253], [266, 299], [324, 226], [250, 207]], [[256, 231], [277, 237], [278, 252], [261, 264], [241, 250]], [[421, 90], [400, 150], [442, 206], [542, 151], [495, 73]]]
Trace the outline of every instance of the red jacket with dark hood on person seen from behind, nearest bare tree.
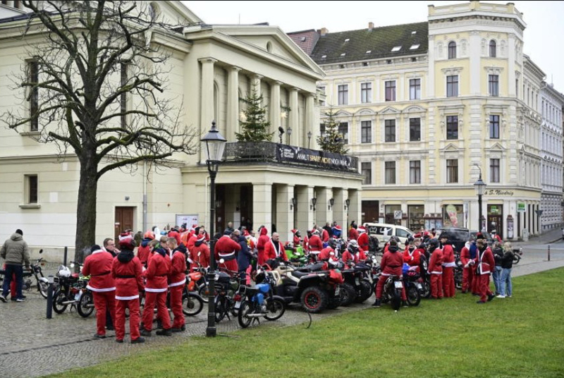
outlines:
[[139, 292], [145, 290], [142, 270], [143, 267], [137, 257], [125, 263], [114, 257], [111, 264], [111, 276], [116, 280], [117, 300], [139, 298]]

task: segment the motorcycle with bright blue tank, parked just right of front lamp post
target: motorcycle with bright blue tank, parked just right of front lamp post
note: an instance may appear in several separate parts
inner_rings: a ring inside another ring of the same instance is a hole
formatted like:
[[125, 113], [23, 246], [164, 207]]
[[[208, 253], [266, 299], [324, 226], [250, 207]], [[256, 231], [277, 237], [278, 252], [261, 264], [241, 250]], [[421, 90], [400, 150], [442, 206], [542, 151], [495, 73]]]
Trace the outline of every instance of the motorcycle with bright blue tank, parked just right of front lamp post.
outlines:
[[286, 311], [284, 299], [274, 295], [272, 286], [276, 284], [276, 272], [265, 272], [257, 269], [257, 285], [254, 287], [241, 286], [240, 295], [243, 300], [238, 313], [239, 325], [243, 328], [252, 322], [260, 322], [259, 318], [273, 321], [280, 319]]

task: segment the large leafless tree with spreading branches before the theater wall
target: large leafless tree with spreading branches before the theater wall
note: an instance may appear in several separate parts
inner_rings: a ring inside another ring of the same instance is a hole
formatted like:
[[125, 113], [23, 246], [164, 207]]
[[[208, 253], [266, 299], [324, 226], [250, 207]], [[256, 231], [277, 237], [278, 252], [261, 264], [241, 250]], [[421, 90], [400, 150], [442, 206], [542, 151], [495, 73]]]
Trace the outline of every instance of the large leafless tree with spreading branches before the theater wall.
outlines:
[[[135, 1], [23, 1], [30, 60], [16, 85], [27, 111], [1, 118], [9, 128], [35, 126], [38, 142], [80, 162], [75, 258], [94, 244], [97, 183], [104, 173], [140, 161], [170, 162], [195, 153], [194, 134], [166, 97], [170, 54], [154, 33], [177, 34]], [[37, 4], [42, 4], [39, 8]], [[37, 41], [36, 37], [41, 37]], [[181, 106], [180, 106], [181, 107]]]

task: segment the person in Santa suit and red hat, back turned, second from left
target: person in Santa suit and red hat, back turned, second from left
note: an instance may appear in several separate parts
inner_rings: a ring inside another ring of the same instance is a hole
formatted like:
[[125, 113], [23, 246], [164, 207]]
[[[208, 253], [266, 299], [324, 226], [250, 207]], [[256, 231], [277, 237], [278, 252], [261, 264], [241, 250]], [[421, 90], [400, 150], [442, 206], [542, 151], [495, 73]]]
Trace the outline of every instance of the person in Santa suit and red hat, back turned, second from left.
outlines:
[[139, 293], [145, 290], [143, 267], [133, 248], [122, 248], [111, 264], [111, 276], [116, 280], [116, 341], [125, 337], [125, 309], [129, 309], [131, 343], [145, 343], [139, 333]]

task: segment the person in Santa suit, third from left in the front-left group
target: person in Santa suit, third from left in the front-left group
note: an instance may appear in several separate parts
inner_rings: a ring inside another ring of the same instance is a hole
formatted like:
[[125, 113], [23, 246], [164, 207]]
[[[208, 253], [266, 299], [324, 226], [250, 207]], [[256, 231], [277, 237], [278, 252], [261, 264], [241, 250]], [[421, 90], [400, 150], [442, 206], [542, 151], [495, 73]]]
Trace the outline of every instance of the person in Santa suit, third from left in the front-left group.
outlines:
[[142, 336], [151, 336], [153, 327], [153, 311], [157, 305], [157, 317], [161, 320], [163, 329], [157, 335], [171, 336], [171, 318], [166, 308], [166, 291], [168, 290], [168, 274], [171, 270], [171, 259], [166, 248], [158, 247], [153, 250], [149, 259], [149, 266], [145, 271], [145, 309], [143, 310]]

